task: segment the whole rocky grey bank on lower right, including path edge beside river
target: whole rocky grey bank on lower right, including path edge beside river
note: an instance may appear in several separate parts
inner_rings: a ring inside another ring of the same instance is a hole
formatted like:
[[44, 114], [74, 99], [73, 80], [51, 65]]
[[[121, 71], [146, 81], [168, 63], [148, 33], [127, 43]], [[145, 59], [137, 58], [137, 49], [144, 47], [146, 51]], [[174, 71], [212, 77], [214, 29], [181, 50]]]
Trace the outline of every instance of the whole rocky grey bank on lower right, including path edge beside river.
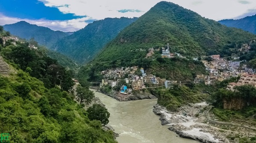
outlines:
[[[178, 112], [169, 112], [165, 107], [155, 105], [153, 112], [160, 116], [162, 125], [170, 125], [172, 132], [184, 138], [198, 140], [203, 143], [239, 143], [234, 137], [253, 137], [255, 134], [243, 126], [232, 128], [232, 123], [212, 121], [209, 117], [211, 106], [205, 102], [188, 104], [179, 108]], [[228, 125], [224, 126], [222, 125]], [[221, 129], [223, 128], [223, 129]]]

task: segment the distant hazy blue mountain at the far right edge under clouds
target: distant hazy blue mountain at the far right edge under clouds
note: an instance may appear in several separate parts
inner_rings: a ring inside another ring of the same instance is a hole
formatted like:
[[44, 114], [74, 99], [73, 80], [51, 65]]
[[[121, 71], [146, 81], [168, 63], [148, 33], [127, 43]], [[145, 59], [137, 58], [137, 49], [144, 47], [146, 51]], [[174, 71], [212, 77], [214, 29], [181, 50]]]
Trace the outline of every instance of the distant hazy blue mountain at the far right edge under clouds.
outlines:
[[228, 27], [235, 27], [256, 34], [256, 15], [244, 17], [239, 20], [221, 20], [221, 24]]

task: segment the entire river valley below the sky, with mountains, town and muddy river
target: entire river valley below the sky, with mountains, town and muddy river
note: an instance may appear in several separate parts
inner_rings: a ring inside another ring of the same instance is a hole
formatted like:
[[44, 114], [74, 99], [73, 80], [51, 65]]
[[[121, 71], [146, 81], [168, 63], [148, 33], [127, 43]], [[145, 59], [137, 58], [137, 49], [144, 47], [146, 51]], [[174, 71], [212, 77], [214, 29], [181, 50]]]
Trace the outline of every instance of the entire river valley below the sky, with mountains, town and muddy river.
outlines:
[[[78, 18], [34, 22], [63, 31], [0, 26], [10, 142], [256, 143], [255, 15], [215, 21], [161, 1], [93, 18], [46, 1], [37, 5]], [[123, 17], [133, 13], [143, 14]]]

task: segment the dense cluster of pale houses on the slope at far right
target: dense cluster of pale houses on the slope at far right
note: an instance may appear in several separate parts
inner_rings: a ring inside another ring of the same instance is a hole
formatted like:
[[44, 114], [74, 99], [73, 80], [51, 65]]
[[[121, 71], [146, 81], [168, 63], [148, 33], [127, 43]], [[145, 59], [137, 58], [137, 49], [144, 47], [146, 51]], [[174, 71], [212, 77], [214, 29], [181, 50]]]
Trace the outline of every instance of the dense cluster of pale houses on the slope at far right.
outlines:
[[214, 84], [215, 81], [223, 81], [230, 77], [241, 76], [244, 73], [254, 73], [254, 70], [247, 68], [246, 64], [241, 64], [240, 61], [227, 61], [221, 59], [220, 55], [212, 55], [213, 61], [201, 61], [204, 63], [209, 75], [197, 75], [194, 83], [204, 83], [206, 85]]

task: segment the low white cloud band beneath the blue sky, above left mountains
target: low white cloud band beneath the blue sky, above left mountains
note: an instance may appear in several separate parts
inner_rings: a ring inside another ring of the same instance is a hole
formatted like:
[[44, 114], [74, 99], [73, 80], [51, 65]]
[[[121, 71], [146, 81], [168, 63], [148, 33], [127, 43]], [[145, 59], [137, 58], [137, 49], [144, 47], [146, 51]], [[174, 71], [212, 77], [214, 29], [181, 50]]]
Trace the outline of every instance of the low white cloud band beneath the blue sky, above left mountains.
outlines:
[[19, 21], [26, 21], [26, 22], [29, 22], [30, 24], [48, 27], [55, 31], [59, 30], [59, 31], [65, 31], [65, 32], [77, 31], [81, 28], [84, 28], [88, 24], [85, 21], [90, 19], [89, 17], [84, 17], [84, 18], [73, 19], [73, 20], [64, 20], [64, 21], [45, 20], [45, 19], [29, 20], [29, 19], [15, 18], [15, 17], [6, 17], [3, 14], [0, 14], [0, 17], [1, 17], [0, 25], [12, 24], [12, 23], [16, 23]]

